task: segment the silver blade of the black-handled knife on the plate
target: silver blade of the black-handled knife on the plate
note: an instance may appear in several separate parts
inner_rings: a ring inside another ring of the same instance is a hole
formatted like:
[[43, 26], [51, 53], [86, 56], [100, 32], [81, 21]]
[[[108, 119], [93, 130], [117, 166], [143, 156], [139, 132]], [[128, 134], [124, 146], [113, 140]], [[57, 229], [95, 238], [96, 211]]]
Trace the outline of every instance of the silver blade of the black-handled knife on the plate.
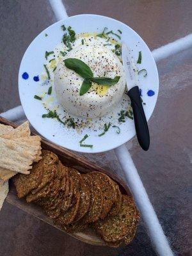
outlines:
[[122, 61], [128, 90], [136, 85], [139, 86], [138, 68], [136, 67], [136, 61], [131, 56], [131, 51], [125, 42], [122, 42]]

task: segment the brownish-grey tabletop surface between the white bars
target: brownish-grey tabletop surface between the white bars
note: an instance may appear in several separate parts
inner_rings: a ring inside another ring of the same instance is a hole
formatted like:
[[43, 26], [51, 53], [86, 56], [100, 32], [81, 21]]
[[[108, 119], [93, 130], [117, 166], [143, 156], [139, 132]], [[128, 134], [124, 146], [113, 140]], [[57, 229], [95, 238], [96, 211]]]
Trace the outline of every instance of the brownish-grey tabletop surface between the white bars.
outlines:
[[[68, 15], [96, 13], [128, 24], [151, 50], [192, 32], [191, 0], [66, 0]], [[17, 74], [26, 47], [55, 22], [47, 0], [1, 0], [0, 113], [20, 104]], [[159, 98], [150, 118], [151, 145], [143, 152], [127, 143], [148, 196], [176, 255], [191, 255], [191, 83], [192, 51], [160, 61]], [[122, 175], [113, 150], [84, 155]], [[156, 255], [140, 221], [134, 241], [123, 248], [81, 243], [60, 230], [5, 203], [0, 212], [0, 255]]]

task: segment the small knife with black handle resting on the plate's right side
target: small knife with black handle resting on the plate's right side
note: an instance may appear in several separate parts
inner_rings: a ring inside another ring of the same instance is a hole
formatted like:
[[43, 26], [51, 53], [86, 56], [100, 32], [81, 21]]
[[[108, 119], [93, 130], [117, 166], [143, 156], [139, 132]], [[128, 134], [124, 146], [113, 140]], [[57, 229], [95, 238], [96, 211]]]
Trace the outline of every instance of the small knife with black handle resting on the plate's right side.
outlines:
[[127, 82], [128, 96], [131, 99], [131, 106], [134, 115], [134, 125], [138, 142], [143, 150], [148, 150], [150, 145], [150, 135], [148, 132], [147, 120], [141, 103], [140, 90], [138, 87], [138, 68], [132, 58], [129, 48], [122, 42], [122, 60]]

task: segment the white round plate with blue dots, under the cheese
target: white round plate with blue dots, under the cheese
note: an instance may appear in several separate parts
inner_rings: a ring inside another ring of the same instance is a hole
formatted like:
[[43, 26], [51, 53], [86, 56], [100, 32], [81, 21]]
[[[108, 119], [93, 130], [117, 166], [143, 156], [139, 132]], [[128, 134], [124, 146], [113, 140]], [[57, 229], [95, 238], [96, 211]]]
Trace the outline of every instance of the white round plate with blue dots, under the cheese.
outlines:
[[[132, 56], [138, 59], [138, 52], [141, 51], [142, 61], [140, 70], [145, 68], [148, 72], [146, 77], [140, 77], [140, 88], [143, 102], [143, 108], [147, 120], [152, 115], [156, 106], [157, 95], [159, 91], [159, 77], [157, 73], [156, 63], [142, 38], [129, 26], [124, 23], [100, 15], [76, 15], [65, 20], [60, 20], [46, 28], [31, 42], [26, 50], [19, 68], [19, 95], [24, 112], [33, 127], [47, 140], [60, 145], [61, 147], [79, 152], [97, 153], [104, 152], [116, 148], [129, 141], [135, 134], [134, 122], [127, 118], [126, 122], [119, 124], [120, 134], [115, 129], [109, 129], [104, 136], [99, 137], [98, 132], [88, 131], [84, 129], [79, 134], [75, 129], [67, 128], [60, 124], [56, 118], [42, 118], [42, 114], [46, 113], [40, 100], [34, 99], [34, 95], [40, 86], [33, 79], [34, 76], [42, 73], [45, 51], [52, 51], [61, 42], [63, 31], [61, 25], [71, 26], [74, 31], [79, 34], [83, 32], [98, 32], [104, 27], [109, 30], [122, 31], [124, 42], [132, 49]], [[45, 36], [47, 34], [48, 36]], [[23, 79], [24, 72], [28, 73], [28, 79]], [[102, 132], [102, 131], [100, 131]], [[86, 144], [92, 144], [92, 148], [80, 147], [79, 141], [88, 133]]]

